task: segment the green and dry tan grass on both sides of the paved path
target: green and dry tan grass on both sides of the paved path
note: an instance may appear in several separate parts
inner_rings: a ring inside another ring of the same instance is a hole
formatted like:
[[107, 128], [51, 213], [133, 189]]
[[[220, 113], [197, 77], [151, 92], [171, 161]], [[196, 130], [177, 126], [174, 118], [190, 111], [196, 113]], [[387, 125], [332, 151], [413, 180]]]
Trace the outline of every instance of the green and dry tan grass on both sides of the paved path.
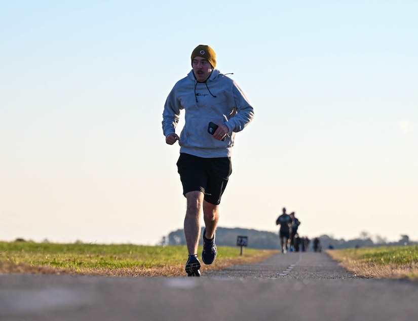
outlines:
[[[0, 242], [0, 273], [177, 276], [184, 275], [186, 253], [185, 246]], [[241, 256], [239, 247], [218, 247], [215, 263], [202, 269], [257, 262], [276, 253], [246, 248]], [[327, 253], [359, 276], [418, 279], [418, 245]]]

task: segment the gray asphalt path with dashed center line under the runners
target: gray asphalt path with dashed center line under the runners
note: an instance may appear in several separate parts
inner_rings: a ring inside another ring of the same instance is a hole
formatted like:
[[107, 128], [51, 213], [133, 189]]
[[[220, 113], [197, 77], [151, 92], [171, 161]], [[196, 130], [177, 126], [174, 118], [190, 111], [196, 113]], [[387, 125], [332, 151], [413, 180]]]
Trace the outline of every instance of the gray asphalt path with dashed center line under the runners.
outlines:
[[418, 283], [357, 278], [325, 253], [201, 277], [0, 275], [0, 321], [416, 320]]

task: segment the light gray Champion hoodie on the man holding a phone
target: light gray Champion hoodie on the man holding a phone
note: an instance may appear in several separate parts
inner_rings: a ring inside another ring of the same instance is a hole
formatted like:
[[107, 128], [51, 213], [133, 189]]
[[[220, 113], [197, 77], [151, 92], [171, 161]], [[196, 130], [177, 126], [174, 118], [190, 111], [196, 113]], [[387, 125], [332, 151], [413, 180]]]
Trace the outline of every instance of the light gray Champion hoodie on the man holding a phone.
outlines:
[[[180, 134], [180, 153], [199, 157], [230, 157], [235, 133], [242, 131], [254, 117], [254, 110], [233, 79], [213, 69], [206, 83], [196, 81], [193, 70], [180, 79], [164, 105], [163, 133], [174, 133], [185, 110], [185, 125]], [[208, 133], [209, 122], [223, 123], [229, 133], [219, 141]]]

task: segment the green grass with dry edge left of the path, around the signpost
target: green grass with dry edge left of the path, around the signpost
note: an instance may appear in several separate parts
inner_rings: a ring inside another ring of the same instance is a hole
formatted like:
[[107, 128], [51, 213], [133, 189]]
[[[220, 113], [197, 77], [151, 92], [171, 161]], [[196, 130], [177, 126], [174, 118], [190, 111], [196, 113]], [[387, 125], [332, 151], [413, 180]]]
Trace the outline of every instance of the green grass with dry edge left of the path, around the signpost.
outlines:
[[[219, 247], [217, 266], [246, 262], [274, 251]], [[98, 275], [182, 275], [185, 246], [0, 242], [0, 273], [78, 273]]]

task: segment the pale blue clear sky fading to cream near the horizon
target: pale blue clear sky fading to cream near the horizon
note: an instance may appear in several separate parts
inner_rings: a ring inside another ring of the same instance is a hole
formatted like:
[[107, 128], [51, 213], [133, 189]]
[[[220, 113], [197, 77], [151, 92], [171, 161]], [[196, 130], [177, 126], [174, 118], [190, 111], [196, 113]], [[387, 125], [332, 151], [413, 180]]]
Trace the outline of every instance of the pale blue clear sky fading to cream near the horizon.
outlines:
[[418, 3], [0, 1], [0, 239], [182, 228], [165, 99], [210, 45], [255, 109], [222, 227], [418, 240]]

